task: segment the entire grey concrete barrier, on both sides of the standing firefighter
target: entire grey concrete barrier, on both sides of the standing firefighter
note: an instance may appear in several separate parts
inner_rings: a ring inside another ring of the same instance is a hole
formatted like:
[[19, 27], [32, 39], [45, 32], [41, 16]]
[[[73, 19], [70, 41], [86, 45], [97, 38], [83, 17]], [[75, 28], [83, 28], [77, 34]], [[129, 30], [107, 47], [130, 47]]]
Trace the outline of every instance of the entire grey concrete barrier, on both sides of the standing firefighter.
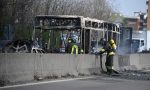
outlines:
[[[103, 56], [103, 69], [105, 69]], [[150, 67], [150, 54], [131, 54], [114, 57], [117, 70], [137, 70]], [[100, 73], [100, 57], [81, 54], [0, 54], [0, 80], [28, 81], [35, 78], [78, 76]]]

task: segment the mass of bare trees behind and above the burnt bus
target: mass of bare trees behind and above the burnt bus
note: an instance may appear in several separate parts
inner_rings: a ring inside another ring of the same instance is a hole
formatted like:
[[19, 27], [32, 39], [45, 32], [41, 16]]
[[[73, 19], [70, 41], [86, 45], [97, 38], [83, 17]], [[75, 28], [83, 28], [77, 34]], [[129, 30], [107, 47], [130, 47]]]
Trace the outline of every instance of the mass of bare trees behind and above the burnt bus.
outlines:
[[[108, 20], [113, 12], [108, 0], [0, 0], [0, 24], [12, 24], [16, 37], [32, 29], [36, 15], [80, 15]], [[28, 31], [29, 32], [29, 31]]]

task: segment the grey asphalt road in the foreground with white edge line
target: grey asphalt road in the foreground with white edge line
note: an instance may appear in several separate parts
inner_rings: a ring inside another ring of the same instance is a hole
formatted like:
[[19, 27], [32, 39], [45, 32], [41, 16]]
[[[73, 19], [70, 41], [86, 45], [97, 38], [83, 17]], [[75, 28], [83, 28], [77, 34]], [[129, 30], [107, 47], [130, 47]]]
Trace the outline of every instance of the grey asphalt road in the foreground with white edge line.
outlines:
[[150, 90], [150, 81], [99, 76], [88, 79], [6, 86], [0, 90]]

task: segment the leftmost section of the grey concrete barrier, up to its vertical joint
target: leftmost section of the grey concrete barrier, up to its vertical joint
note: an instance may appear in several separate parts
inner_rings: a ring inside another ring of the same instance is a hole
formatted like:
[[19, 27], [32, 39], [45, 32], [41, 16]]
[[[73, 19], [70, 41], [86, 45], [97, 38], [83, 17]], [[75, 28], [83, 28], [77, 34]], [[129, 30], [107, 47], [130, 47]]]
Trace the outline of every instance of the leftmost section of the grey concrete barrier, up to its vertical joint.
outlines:
[[[35, 54], [0, 54], [0, 76], [11, 82], [32, 80]], [[31, 59], [32, 58], [32, 59]]]

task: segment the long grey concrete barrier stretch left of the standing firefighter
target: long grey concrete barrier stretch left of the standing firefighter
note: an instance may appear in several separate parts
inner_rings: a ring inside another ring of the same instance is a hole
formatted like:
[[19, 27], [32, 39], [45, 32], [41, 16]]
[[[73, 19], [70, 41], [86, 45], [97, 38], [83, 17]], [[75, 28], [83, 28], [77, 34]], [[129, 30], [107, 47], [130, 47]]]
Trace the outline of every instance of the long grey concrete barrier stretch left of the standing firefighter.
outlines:
[[11, 82], [100, 73], [99, 57], [70, 54], [0, 54], [0, 79]]

